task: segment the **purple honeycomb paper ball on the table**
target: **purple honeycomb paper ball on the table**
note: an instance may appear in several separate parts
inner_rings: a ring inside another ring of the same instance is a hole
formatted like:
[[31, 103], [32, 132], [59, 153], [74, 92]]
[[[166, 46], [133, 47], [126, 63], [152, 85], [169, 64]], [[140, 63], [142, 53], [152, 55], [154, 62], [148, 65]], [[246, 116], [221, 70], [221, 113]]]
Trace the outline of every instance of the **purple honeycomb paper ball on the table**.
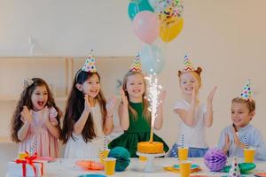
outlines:
[[212, 172], [220, 172], [226, 165], [227, 158], [223, 153], [223, 150], [213, 148], [207, 150], [204, 156], [204, 164]]

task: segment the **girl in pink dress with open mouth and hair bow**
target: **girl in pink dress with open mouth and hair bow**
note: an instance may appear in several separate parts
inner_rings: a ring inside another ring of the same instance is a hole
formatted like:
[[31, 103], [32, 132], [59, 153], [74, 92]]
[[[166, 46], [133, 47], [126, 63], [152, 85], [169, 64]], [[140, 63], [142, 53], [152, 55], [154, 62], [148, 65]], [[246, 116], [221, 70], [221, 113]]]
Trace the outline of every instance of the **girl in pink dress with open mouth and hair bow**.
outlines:
[[12, 118], [12, 141], [20, 142], [19, 152], [59, 158], [61, 115], [45, 81], [40, 78], [25, 80]]

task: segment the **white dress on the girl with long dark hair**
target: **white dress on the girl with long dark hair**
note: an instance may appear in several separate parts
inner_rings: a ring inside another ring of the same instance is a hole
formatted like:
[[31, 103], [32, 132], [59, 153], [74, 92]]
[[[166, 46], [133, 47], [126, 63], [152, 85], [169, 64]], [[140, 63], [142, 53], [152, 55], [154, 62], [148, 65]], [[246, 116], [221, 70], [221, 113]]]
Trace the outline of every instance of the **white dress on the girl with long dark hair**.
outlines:
[[102, 114], [99, 104], [91, 107], [94, 129], [97, 137], [91, 142], [84, 142], [82, 135], [74, 135], [66, 142], [64, 158], [98, 158], [99, 150], [104, 147], [104, 132], [102, 128]]

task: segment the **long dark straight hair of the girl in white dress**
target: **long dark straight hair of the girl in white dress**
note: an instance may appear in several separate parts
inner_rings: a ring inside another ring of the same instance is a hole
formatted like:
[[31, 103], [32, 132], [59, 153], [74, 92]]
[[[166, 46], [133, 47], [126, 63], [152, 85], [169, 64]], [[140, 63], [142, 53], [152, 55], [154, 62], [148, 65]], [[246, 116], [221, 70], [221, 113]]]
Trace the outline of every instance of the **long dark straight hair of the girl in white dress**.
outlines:
[[[94, 74], [98, 76], [98, 79], [100, 81], [100, 76], [98, 73], [84, 72], [82, 70], [79, 70], [74, 77], [73, 86], [66, 103], [66, 113], [64, 116], [61, 134], [61, 140], [63, 143], [66, 143], [70, 137], [74, 139], [74, 136], [72, 134], [74, 131], [74, 124], [78, 119], [80, 119], [84, 110], [84, 95], [82, 91], [76, 88], [76, 84], [82, 84]], [[98, 95], [96, 96], [96, 100], [100, 105], [100, 111], [103, 119], [102, 127], [104, 127], [104, 125], [106, 124], [106, 99], [101, 89], [99, 90]], [[93, 115], [90, 112], [85, 126], [82, 129], [82, 138], [84, 142], [90, 142], [93, 138], [97, 136], [92, 116]]]

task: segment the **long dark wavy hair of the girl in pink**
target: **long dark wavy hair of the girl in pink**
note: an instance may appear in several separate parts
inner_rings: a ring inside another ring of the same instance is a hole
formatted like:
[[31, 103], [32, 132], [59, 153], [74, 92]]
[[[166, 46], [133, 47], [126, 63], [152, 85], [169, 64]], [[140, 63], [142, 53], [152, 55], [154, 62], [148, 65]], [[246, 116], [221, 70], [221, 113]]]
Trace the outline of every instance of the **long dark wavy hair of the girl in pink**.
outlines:
[[[47, 89], [48, 93], [48, 99], [45, 106], [51, 108], [54, 107], [56, 111], [58, 112], [58, 115], [56, 119], [60, 123], [59, 118], [62, 117], [62, 112], [59, 110], [59, 107], [55, 104], [54, 98], [52, 96], [51, 90], [49, 89], [46, 81], [44, 81], [41, 78], [33, 78], [31, 79], [33, 81], [33, 84], [28, 86], [26, 89], [24, 89], [20, 95], [20, 100], [16, 106], [15, 112], [12, 116], [12, 122], [11, 122], [11, 135], [12, 135], [12, 141], [13, 142], [20, 142], [18, 137], [18, 131], [20, 130], [20, 127], [22, 127], [23, 122], [20, 119], [20, 113], [23, 110], [23, 106], [26, 105], [28, 109], [33, 109], [33, 104], [31, 101], [31, 96], [35, 91], [35, 88], [38, 86], [44, 86]], [[60, 125], [58, 125], [60, 127]]]

